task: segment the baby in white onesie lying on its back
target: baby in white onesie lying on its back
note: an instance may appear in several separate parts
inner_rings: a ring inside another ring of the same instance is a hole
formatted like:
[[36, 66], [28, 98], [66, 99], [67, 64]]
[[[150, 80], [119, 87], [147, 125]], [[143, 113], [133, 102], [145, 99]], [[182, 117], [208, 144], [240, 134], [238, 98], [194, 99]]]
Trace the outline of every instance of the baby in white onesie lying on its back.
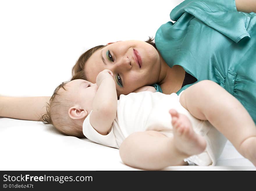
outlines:
[[62, 83], [42, 121], [67, 135], [119, 148], [122, 161], [136, 168], [215, 165], [226, 138], [256, 165], [253, 119], [216, 83], [198, 82], [179, 96], [145, 86], [119, 100], [115, 87], [110, 70], [100, 72], [96, 84]]

